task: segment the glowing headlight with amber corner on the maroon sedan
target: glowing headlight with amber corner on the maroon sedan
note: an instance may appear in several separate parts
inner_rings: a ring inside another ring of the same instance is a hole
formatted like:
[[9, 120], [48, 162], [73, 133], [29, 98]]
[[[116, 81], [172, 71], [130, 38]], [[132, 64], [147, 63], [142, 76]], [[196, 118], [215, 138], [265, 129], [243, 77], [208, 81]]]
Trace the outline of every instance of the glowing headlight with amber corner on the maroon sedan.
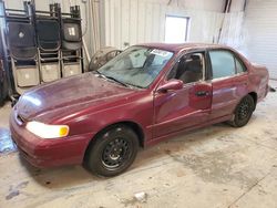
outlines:
[[69, 135], [66, 125], [48, 125], [40, 122], [28, 122], [25, 128], [41, 138], [61, 138]]

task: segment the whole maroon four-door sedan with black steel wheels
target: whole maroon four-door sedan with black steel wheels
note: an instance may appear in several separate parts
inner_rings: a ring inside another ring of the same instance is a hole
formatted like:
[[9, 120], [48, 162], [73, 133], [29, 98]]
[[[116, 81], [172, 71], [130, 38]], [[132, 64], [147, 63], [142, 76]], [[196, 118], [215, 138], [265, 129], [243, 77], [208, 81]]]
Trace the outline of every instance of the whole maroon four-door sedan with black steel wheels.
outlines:
[[219, 122], [246, 125], [267, 92], [267, 70], [230, 48], [141, 44], [98, 71], [24, 93], [10, 129], [34, 166], [84, 164], [115, 176], [138, 147]]

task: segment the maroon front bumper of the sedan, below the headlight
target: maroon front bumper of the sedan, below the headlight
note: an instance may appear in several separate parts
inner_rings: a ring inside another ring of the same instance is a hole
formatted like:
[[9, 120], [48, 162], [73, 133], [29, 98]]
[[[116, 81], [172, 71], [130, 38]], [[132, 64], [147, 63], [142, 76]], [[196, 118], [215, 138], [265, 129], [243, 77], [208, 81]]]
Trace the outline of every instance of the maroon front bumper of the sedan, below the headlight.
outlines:
[[82, 164], [85, 149], [93, 133], [68, 136], [57, 139], [42, 139], [19, 124], [17, 113], [10, 115], [10, 131], [23, 157], [35, 167], [54, 167]]

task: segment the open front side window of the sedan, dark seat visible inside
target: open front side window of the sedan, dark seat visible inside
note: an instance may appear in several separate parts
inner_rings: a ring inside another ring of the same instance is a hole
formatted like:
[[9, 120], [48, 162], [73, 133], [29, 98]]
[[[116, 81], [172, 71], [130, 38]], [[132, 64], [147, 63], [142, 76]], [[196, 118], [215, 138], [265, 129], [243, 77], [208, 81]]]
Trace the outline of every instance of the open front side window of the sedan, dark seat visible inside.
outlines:
[[191, 53], [182, 56], [170, 72], [167, 80], [176, 79], [184, 83], [203, 80], [205, 69], [204, 53]]

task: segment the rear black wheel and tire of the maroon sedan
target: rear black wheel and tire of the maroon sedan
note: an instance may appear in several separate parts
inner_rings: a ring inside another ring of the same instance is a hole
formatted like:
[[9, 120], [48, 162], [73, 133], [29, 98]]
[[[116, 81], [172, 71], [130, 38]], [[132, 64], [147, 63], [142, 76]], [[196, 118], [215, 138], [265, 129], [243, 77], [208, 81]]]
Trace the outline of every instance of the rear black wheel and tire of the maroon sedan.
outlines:
[[234, 127], [243, 127], [245, 126], [255, 110], [255, 102], [250, 95], [246, 95], [237, 105], [234, 114], [235, 117], [230, 122], [230, 125]]

